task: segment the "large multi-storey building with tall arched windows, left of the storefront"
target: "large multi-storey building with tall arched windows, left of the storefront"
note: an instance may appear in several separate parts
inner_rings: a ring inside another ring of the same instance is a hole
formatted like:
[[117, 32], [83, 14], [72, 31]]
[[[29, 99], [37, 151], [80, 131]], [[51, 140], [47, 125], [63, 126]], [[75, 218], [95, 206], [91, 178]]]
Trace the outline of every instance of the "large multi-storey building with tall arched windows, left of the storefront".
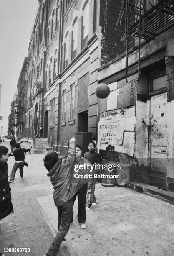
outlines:
[[66, 154], [76, 132], [97, 138], [98, 68], [123, 52], [115, 30], [121, 3], [40, 0], [28, 49], [25, 137], [43, 137]]

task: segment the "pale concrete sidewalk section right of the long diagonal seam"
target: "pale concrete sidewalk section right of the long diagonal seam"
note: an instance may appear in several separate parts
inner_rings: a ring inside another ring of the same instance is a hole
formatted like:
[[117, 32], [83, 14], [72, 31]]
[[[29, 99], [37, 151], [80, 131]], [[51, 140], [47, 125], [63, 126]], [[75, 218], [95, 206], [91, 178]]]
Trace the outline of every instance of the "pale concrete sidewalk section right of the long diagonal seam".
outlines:
[[[76, 202], [63, 256], [174, 255], [173, 205], [127, 188], [101, 184], [96, 184], [96, 198], [97, 205], [86, 212], [86, 230], [77, 222]], [[37, 200], [54, 233], [57, 216], [52, 197]]]

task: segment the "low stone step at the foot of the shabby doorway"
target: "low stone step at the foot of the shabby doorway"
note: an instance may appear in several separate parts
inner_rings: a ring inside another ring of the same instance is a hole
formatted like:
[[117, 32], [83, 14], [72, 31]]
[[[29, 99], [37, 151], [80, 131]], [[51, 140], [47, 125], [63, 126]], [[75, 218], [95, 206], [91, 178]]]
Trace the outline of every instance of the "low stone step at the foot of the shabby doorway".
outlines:
[[159, 198], [174, 205], [174, 192], [162, 190], [157, 187], [139, 182], [128, 182], [127, 187], [134, 191]]

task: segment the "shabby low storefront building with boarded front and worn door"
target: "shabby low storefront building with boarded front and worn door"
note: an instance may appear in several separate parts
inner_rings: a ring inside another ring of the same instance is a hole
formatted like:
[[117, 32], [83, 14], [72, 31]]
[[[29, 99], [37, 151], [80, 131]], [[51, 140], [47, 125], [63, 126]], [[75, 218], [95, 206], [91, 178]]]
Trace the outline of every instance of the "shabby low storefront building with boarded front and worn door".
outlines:
[[134, 180], [174, 191], [174, 1], [135, 2], [136, 19], [124, 13], [131, 1], [120, 15], [127, 52], [98, 71], [111, 91], [99, 101], [98, 148], [110, 143], [133, 158]]

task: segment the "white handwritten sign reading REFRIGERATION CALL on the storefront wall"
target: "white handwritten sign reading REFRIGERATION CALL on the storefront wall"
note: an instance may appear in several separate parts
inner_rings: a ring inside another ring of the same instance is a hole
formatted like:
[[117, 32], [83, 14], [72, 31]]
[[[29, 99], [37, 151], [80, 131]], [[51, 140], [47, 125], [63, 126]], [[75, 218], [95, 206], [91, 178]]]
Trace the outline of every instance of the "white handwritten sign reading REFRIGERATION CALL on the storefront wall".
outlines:
[[100, 143], [122, 145], [124, 122], [112, 122], [111, 120], [100, 121], [98, 123], [98, 132], [100, 136]]

